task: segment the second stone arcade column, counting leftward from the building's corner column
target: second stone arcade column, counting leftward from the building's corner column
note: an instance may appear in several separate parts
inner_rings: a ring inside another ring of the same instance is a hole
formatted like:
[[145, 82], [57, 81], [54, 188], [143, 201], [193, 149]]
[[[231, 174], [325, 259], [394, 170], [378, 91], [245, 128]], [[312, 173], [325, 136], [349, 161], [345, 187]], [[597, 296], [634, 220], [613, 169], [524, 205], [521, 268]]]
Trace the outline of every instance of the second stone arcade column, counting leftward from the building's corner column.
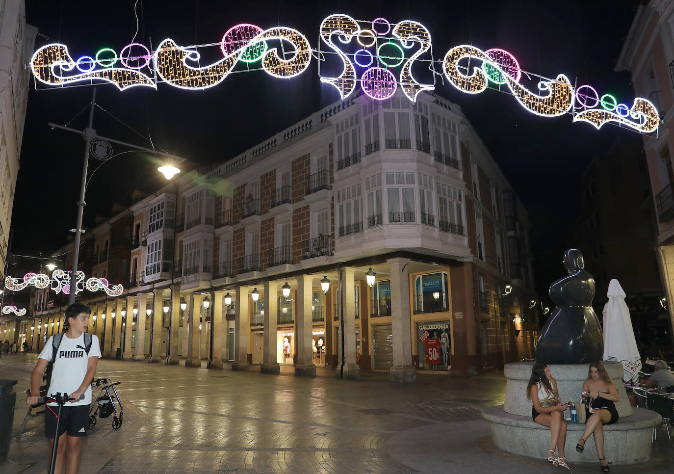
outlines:
[[[337, 297], [340, 298], [340, 326], [337, 345], [337, 378], [358, 380], [361, 378], [361, 367], [356, 363], [356, 295], [354, 293], [355, 268], [346, 267], [340, 270], [341, 288]], [[342, 326], [342, 318], [343, 326]], [[327, 324], [327, 323], [326, 323]], [[327, 326], [326, 326], [327, 327]], [[342, 359], [342, 328], [344, 333], [344, 357]], [[343, 364], [343, 365], [342, 365]]]

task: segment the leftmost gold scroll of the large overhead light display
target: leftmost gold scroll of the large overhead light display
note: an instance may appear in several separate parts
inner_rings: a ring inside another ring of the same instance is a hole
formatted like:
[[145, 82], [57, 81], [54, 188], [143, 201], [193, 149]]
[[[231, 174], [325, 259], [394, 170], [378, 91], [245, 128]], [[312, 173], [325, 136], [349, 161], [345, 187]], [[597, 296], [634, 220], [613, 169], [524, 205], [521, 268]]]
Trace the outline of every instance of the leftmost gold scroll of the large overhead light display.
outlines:
[[[93, 61], [93, 59], [92, 59]], [[65, 45], [51, 43], [38, 49], [30, 58], [30, 69], [36, 80], [48, 86], [73, 84], [75, 82], [102, 80], [115, 84], [119, 90], [135, 86], [147, 86], [156, 89], [156, 84], [146, 74], [135, 69], [123, 67], [109, 67], [106, 69], [92, 70], [76, 74], [75, 76], [61, 76], [55, 71], [59, 67], [61, 71], [72, 71], [75, 61], [68, 53]]]

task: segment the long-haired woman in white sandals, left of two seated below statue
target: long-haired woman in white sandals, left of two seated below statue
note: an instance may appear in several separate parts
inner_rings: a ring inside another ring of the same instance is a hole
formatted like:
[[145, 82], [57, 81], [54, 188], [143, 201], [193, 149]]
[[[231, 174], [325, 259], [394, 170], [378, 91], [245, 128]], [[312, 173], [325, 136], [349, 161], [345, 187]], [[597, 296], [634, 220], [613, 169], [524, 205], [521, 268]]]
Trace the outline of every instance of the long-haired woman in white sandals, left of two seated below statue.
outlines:
[[[539, 425], [550, 428], [551, 440], [548, 461], [554, 466], [569, 469], [564, 454], [566, 442], [566, 421], [562, 416], [566, 403], [561, 402], [557, 392], [557, 380], [552, 378], [550, 369], [544, 363], [536, 363], [531, 369], [531, 377], [526, 386], [526, 398], [531, 401], [531, 417]], [[559, 458], [555, 458], [555, 449]]]

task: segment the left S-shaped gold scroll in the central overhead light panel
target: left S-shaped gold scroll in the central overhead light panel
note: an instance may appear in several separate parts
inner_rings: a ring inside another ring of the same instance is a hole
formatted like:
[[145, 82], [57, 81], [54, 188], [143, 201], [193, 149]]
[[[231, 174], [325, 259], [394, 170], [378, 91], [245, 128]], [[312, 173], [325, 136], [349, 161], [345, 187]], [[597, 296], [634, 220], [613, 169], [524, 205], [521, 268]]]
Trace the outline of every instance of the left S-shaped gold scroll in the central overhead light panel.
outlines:
[[[347, 43], [351, 40], [351, 38], [353, 38], [355, 34], [358, 34], [360, 31], [361, 28], [358, 26], [356, 20], [348, 15], [330, 15], [321, 23], [321, 40], [326, 45], [328, 45], [328, 47], [334, 49], [334, 51], [336, 51], [339, 55], [340, 59], [342, 59], [342, 63], [344, 63], [344, 71], [342, 71], [338, 77], [321, 77], [321, 82], [325, 82], [326, 84], [331, 84], [334, 86], [334, 88], [338, 90], [342, 100], [345, 97], [350, 96], [350, 94], [356, 88], [356, 68], [353, 67], [353, 63], [348, 58], [348, 56], [344, 54], [344, 52], [342, 52], [342, 50], [340, 50], [337, 45], [334, 44], [334, 42], [332, 42], [332, 36], [337, 34], [339, 35], [338, 38], [342, 43]], [[318, 75], [321, 75], [320, 63]]]

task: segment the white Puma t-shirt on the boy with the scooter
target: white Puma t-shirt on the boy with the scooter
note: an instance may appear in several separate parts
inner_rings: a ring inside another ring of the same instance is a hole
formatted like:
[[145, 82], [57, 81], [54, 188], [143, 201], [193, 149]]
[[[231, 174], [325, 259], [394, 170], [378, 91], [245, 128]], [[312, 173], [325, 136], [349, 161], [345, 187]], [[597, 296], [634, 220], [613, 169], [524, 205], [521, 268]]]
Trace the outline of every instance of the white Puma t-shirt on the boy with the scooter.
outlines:
[[[40, 359], [51, 361], [52, 356], [52, 341], [54, 336], [47, 340], [44, 349], [40, 352]], [[58, 353], [54, 361], [54, 368], [51, 372], [51, 384], [47, 389], [49, 396], [57, 394], [57, 392], [72, 393], [78, 390], [86, 376], [87, 364], [89, 357], [101, 357], [100, 345], [98, 344], [98, 337], [94, 334], [91, 336], [91, 348], [89, 355], [84, 349], [84, 332], [80, 334], [77, 339], [71, 339], [66, 334], [61, 338], [61, 345], [59, 345]], [[84, 392], [84, 400], [74, 401], [69, 406], [73, 405], [90, 405], [91, 403], [91, 386], [88, 386]], [[57, 405], [56, 403], [49, 403], [48, 405]]]

